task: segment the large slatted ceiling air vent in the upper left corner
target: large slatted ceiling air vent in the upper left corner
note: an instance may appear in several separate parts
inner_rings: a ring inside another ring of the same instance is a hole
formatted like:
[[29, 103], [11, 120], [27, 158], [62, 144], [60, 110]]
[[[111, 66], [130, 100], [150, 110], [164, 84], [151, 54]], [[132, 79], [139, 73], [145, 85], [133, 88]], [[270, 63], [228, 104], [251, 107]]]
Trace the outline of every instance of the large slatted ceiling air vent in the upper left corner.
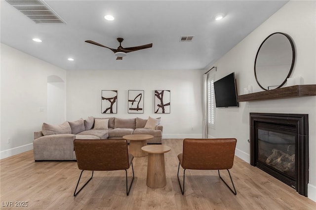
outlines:
[[43, 0], [5, 0], [35, 23], [66, 23]]

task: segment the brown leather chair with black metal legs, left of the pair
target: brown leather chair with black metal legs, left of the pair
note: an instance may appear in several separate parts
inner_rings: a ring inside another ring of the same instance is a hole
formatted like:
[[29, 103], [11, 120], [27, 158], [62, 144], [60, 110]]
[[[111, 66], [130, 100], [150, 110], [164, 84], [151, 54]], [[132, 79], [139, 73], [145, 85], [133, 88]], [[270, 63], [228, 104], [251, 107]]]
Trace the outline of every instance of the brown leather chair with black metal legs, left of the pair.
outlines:
[[[76, 196], [83, 187], [92, 179], [93, 171], [114, 171], [125, 170], [126, 175], [126, 194], [129, 194], [134, 180], [133, 158], [128, 153], [126, 140], [74, 140], [78, 168], [81, 171], [78, 183], [74, 192]], [[132, 165], [133, 178], [129, 189], [127, 187], [127, 169]], [[79, 181], [83, 171], [92, 171], [88, 181], [79, 189]]]

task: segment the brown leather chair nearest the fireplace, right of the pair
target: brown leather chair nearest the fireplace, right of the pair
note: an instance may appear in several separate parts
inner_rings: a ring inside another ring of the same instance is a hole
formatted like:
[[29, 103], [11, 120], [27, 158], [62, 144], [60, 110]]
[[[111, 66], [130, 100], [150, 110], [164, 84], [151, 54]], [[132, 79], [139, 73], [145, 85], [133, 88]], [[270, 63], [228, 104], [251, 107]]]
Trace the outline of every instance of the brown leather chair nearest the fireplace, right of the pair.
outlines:
[[[228, 188], [236, 195], [236, 188], [229, 172], [233, 167], [236, 139], [184, 139], [183, 153], [178, 155], [178, 181], [182, 195], [184, 194], [184, 180], [187, 169], [195, 170], [218, 170], [219, 177], [221, 177], [219, 170], [227, 170], [231, 178], [234, 190], [224, 181]], [[179, 179], [179, 169], [183, 171], [183, 188], [181, 187]]]

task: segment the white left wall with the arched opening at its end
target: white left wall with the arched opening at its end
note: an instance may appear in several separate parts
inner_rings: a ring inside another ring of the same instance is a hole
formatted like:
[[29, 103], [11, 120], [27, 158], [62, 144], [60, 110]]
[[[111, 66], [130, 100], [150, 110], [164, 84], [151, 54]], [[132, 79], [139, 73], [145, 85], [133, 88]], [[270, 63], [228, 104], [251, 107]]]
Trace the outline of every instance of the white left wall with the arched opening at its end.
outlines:
[[47, 120], [47, 77], [57, 75], [65, 81], [66, 73], [5, 44], [0, 47], [0, 157], [5, 158], [33, 149], [33, 132]]

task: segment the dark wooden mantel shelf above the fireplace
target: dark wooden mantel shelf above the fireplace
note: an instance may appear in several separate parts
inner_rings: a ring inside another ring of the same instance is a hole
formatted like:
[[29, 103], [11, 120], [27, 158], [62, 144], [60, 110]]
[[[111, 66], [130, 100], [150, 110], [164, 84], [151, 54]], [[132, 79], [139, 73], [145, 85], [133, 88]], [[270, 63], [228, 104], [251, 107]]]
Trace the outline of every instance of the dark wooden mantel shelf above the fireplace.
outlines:
[[305, 96], [316, 96], [316, 85], [295, 85], [274, 90], [250, 93], [238, 96], [237, 100], [238, 102], [254, 102]]

